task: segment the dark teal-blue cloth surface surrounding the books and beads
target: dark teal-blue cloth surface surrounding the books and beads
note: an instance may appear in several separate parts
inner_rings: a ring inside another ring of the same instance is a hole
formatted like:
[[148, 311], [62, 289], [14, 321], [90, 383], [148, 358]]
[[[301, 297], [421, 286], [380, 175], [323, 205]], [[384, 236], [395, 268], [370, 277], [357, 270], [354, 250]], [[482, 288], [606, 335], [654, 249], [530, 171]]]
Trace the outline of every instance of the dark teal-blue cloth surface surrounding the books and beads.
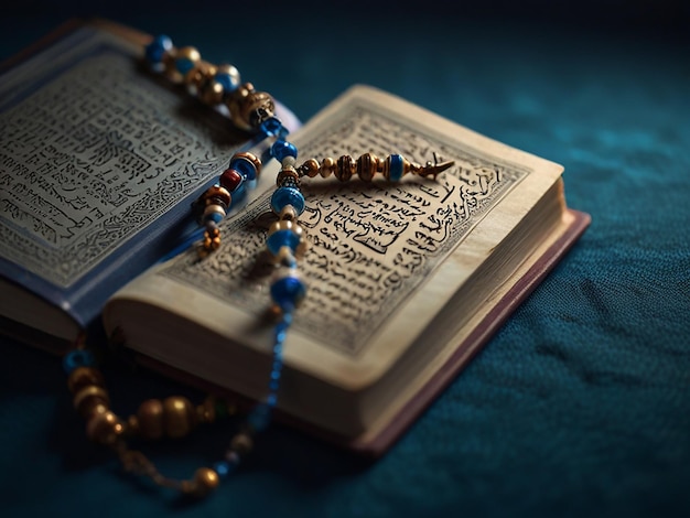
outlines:
[[[235, 63], [303, 120], [353, 83], [379, 86], [562, 163], [569, 204], [593, 218], [385, 457], [273, 427], [198, 504], [123, 475], [85, 439], [58, 359], [2, 341], [3, 516], [690, 516], [689, 9], [478, 3], [2, 8], [3, 57], [98, 14]], [[130, 411], [184, 391], [144, 373], [109, 386]], [[229, 433], [152, 456], [186, 477]]]

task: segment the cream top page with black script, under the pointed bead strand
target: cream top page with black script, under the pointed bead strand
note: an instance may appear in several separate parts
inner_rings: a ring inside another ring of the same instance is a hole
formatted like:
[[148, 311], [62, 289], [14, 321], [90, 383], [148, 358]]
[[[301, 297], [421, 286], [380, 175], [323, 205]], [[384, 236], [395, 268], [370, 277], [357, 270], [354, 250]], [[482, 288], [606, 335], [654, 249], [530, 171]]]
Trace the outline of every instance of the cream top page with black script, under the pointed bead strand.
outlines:
[[[349, 90], [292, 140], [298, 163], [366, 152], [420, 163], [435, 152], [455, 162], [435, 181], [303, 180], [300, 224], [310, 248], [300, 270], [309, 290], [285, 361], [342, 384], [364, 382], [399, 357], [562, 171], [367, 87]], [[278, 169], [272, 161], [262, 173], [268, 191], [222, 224], [219, 250], [204, 260], [190, 251], [122, 296], [268, 350], [272, 266], [262, 251]]]

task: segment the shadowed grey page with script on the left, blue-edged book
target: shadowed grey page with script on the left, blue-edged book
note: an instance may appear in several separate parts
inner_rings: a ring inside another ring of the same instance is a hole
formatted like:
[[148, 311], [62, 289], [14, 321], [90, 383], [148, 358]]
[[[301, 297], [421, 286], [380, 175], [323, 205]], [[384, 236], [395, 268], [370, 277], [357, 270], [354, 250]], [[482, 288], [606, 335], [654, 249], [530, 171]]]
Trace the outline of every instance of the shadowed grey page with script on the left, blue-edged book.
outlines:
[[73, 285], [247, 140], [141, 54], [85, 26], [2, 76], [0, 258]]

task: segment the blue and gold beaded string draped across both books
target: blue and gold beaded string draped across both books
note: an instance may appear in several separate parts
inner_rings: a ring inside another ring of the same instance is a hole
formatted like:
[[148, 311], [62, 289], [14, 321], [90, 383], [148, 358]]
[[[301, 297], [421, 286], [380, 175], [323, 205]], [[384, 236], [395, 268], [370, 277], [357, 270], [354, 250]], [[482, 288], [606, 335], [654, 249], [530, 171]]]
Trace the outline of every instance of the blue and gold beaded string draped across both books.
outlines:
[[[154, 71], [164, 73], [175, 83], [184, 83], [203, 102], [226, 109], [237, 128], [276, 139], [270, 153], [280, 162], [281, 170], [276, 179], [277, 188], [271, 196], [270, 207], [278, 219], [268, 229], [266, 247], [276, 267], [270, 280], [270, 294], [278, 322], [273, 332], [268, 392], [231, 436], [222, 458], [212, 467], [196, 470], [191, 479], [176, 481], [163, 476], [143, 453], [128, 445], [128, 440], [182, 438], [197, 424], [212, 423], [217, 418], [233, 413], [234, 409], [213, 398], [194, 407], [187, 398], [173, 396], [163, 401], [143, 401], [134, 414], [121, 419], [110, 410], [104, 377], [95, 356], [86, 348], [84, 335], [79, 336], [75, 348], [65, 355], [63, 366], [74, 396], [74, 407], [85, 418], [86, 434], [90, 440], [111, 447], [127, 472], [147, 476], [160, 486], [174, 488], [185, 495], [205, 497], [222, 479], [231, 475], [242, 457], [251, 452], [254, 438], [268, 427], [278, 402], [283, 345], [294, 311], [306, 294], [306, 284], [298, 270], [298, 259], [306, 248], [304, 229], [299, 224], [299, 216], [305, 206], [300, 188], [301, 179], [333, 174], [342, 182], [354, 176], [370, 182], [377, 173], [393, 182], [408, 173], [432, 175], [435, 179], [436, 174], [453, 163], [438, 163], [434, 155], [433, 163], [421, 166], [400, 154], [379, 160], [366, 153], [357, 160], [349, 155], [337, 160], [326, 158], [321, 163], [309, 159], [295, 168], [298, 150], [285, 140], [288, 130], [274, 116], [272, 98], [266, 93], [256, 91], [250, 83], [240, 84], [239, 73], [233, 65], [209, 64], [201, 58], [194, 47], [175, 48], [168, 36], [155, 37], [145, 47], [145, 56]], [[196, 207], [200, 211], [200, 223], [204, 226], [204, 238], [198, 248], [202, 257], [220, 246], [218, 224], [226, 216], [233, 195], [240, 193], [246, 182], [256, 180], [260, 170], [261, 161], [257, 157], [249, 152], [236, 153], [228, 169], [220, 174], [218, 184], [200, 196]]]

